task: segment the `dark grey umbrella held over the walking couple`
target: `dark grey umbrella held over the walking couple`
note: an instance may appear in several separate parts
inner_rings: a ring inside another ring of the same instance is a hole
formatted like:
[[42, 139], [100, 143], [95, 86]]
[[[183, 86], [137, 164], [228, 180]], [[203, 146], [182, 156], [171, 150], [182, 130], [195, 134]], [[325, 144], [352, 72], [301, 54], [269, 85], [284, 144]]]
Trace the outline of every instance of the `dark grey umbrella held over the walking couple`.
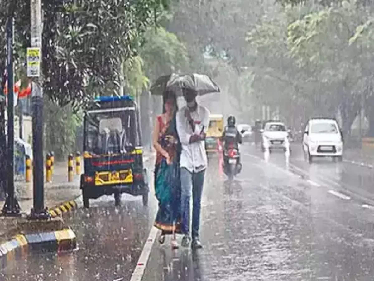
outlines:
[[198, 95], [219, 93], [220, 87], [208, 75], [204, 74], [171, 74], [159, 77], [150, 91], [154, 95], [163, 95], [166, 90], [173, 91], [177, 96], [182, 96], [182, 89], [194, 91]]

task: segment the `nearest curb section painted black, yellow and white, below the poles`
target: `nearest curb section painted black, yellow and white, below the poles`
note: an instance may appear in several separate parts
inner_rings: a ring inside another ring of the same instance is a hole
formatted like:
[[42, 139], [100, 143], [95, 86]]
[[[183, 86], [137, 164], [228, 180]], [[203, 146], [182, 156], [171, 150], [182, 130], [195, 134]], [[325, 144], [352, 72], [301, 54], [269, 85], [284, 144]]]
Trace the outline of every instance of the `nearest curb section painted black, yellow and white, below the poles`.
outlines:
[[56, 252], [74, 250], [77, 238], [70, 228], [52, 232], [19, 234], [0, 245], [0, 269], [31, 252]]

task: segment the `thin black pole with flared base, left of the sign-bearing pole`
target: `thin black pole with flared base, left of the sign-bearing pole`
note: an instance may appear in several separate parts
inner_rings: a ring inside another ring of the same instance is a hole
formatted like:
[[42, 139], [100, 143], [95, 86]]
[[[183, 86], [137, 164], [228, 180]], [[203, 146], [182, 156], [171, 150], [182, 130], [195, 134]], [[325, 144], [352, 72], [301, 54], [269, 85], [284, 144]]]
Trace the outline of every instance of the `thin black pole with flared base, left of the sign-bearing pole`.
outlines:
[[7, 45], [7, 79], [8, 79], [8, 114], [7, 114], [7, 197], [3, 207], [3, 215], [19, 217], [21, 208], [14, 196], [14, 87], [13, 87], [13, 45], [14, 45], [14, 18], [8, 18], [6, 25]]

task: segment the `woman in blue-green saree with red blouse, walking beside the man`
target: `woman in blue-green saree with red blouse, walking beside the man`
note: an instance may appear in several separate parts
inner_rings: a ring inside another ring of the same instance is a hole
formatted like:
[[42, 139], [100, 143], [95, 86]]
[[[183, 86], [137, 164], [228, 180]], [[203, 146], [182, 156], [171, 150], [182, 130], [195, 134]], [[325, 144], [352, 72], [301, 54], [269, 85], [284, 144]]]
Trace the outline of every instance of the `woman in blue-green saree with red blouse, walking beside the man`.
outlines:
[[160, 244], [165, 235], [172, 234], [171, 246], [178, 248], [175, 233], [180, 233], [180, 142], [175, 124], [177, 99], [173, 93], [166, 93], [164, 113], [157, 116], [153, 131], [153, 146], [156, 149], [154, 188], [159, 201], [159, 210], [154, 226], [161, 230]]

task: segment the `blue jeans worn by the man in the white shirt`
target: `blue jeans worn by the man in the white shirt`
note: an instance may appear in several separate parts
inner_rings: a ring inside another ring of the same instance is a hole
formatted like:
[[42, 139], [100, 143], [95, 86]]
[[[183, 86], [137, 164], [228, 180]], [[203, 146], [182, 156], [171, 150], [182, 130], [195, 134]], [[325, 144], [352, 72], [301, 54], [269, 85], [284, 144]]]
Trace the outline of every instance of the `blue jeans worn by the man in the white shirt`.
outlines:
[[192, 195], [192, 238], [199, 237], [200, 202], [203, 192], [205, 170], [191, 173], [186, 168], [181, 168], [181, 230], [185, 235], [190, 234], [190, 198]]

